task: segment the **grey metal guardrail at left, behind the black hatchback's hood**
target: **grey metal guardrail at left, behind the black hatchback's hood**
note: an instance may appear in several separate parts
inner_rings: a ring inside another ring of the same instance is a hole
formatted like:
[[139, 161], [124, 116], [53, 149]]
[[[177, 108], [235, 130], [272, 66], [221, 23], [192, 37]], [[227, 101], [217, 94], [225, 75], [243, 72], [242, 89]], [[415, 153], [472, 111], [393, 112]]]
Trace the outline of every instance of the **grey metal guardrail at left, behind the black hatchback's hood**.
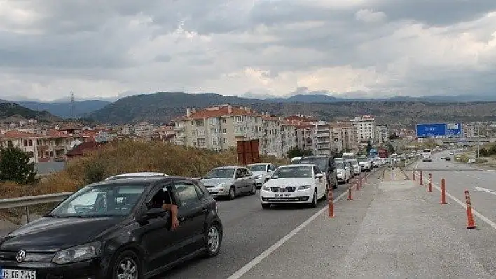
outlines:
[[29, 206], [37, 206], [45, 203], [56, 203], [63, 201], [74, 192], [63, 192], [57, 194], [43, 194], [39, 196], [22, 196], [20, 198], [0, 199], [0, 209], [24, 207], [26, 211], [26, 222], [29, 223]]

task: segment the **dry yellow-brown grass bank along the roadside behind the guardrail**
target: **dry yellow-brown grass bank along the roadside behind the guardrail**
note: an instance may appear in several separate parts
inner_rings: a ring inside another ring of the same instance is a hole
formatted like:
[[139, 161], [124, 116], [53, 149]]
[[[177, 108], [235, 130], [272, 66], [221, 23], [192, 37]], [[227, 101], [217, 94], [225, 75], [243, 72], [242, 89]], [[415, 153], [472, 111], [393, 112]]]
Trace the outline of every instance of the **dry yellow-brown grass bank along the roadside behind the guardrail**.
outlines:
[[[261, 162], [289, 164], [289, 159], [260, 156]], [[0, 199], [72, 192], [119, 173], [157, 171], [174, 176], [204, 176], [216, 166], [237, 165], [236, 151], [215, 152], [154, 141], [118, 141], [67, 164], [35, 185], [2, 183]]]

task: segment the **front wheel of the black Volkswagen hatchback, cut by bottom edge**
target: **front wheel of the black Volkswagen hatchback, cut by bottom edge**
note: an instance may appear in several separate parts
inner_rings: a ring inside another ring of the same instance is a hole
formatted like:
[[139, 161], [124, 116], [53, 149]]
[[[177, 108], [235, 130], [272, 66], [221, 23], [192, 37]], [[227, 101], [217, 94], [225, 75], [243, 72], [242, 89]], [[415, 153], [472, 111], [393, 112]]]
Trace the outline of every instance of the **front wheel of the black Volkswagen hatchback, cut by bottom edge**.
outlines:
[[[136, 253], [132, 252], [132, 250], [124, 250], [121, 252], [111, 266], [111, 274], [108, 278], [114, 279], [123, 277], [119, 276], [120, 274], [128, 276], [131, 275], [129, 278], [144, 278], [142, 274], [142, 262]], [[132, 277], [133, 272], [135, 277]], [[128, 276], [126, 276], [126, 278], [128, 278]]]

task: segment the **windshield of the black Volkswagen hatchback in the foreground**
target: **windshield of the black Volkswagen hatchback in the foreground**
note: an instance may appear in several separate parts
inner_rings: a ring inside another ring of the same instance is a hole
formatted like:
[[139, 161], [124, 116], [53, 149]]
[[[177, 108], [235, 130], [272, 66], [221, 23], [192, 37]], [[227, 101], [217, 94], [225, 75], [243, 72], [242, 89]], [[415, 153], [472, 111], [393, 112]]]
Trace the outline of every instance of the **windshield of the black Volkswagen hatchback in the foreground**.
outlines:
[[147, 184], [83, 187], [60, 203], [49, 217], [123, 217], [131, 213]]

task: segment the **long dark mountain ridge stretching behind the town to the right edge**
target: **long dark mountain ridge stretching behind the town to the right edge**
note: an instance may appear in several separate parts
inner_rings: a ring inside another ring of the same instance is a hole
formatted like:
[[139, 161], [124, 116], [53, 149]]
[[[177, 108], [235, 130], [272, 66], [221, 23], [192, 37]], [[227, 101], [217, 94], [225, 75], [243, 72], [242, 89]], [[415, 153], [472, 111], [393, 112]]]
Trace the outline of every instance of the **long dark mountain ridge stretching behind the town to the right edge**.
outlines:
[[[330, 99], [329, 99], [330, 100]], [[338, 120], [357, 115], [375, 115], [381, 124], [412, 126], [419, 122], [469, 122], [496, 120], [496, 102], [441, 103], [432, 101], [361, 100], [320, 103], [274, 102], [218, 94], [185, 94], [159, 92], [129, 96], [105, 106], [89, 117], [102, 123], [123, 124], [143, 120], [165, 123], [186, 113], [186, 108], [204, 108], [230, 103], [250, 106], [275, 115], [303, 113], [322, 120]]]

